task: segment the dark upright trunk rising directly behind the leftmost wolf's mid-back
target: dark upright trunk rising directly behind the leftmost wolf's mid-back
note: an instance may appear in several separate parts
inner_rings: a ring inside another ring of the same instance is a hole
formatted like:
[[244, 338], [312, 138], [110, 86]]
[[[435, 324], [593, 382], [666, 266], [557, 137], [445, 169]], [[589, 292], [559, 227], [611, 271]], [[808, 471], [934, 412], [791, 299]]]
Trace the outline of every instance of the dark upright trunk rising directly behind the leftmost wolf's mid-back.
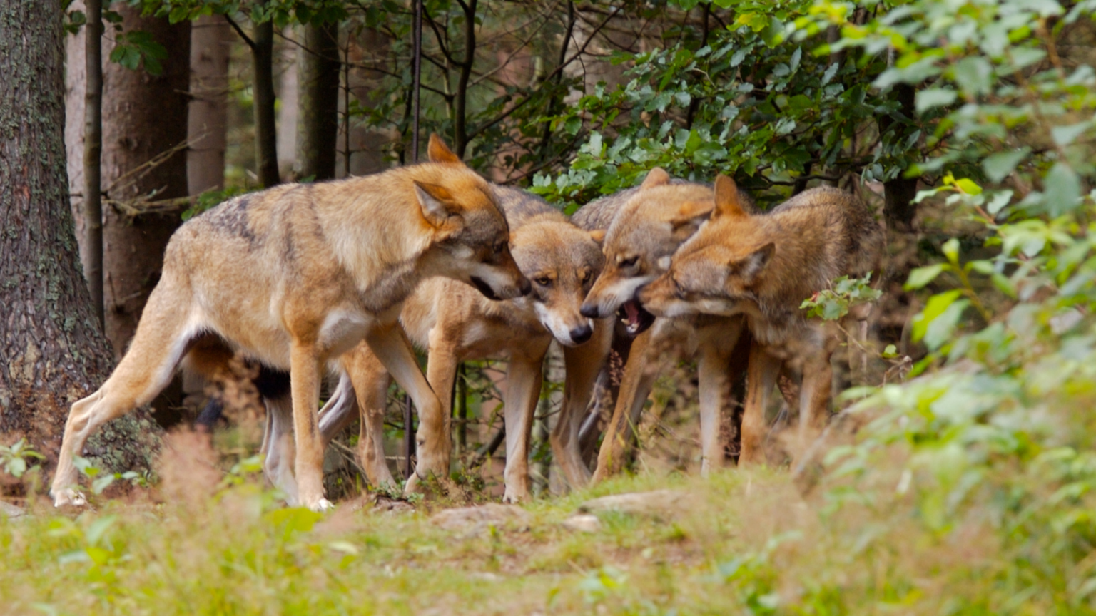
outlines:
[[335, 176], [339, 136], [339, 24], [307, 24], [298, 52], [297, 176]]

